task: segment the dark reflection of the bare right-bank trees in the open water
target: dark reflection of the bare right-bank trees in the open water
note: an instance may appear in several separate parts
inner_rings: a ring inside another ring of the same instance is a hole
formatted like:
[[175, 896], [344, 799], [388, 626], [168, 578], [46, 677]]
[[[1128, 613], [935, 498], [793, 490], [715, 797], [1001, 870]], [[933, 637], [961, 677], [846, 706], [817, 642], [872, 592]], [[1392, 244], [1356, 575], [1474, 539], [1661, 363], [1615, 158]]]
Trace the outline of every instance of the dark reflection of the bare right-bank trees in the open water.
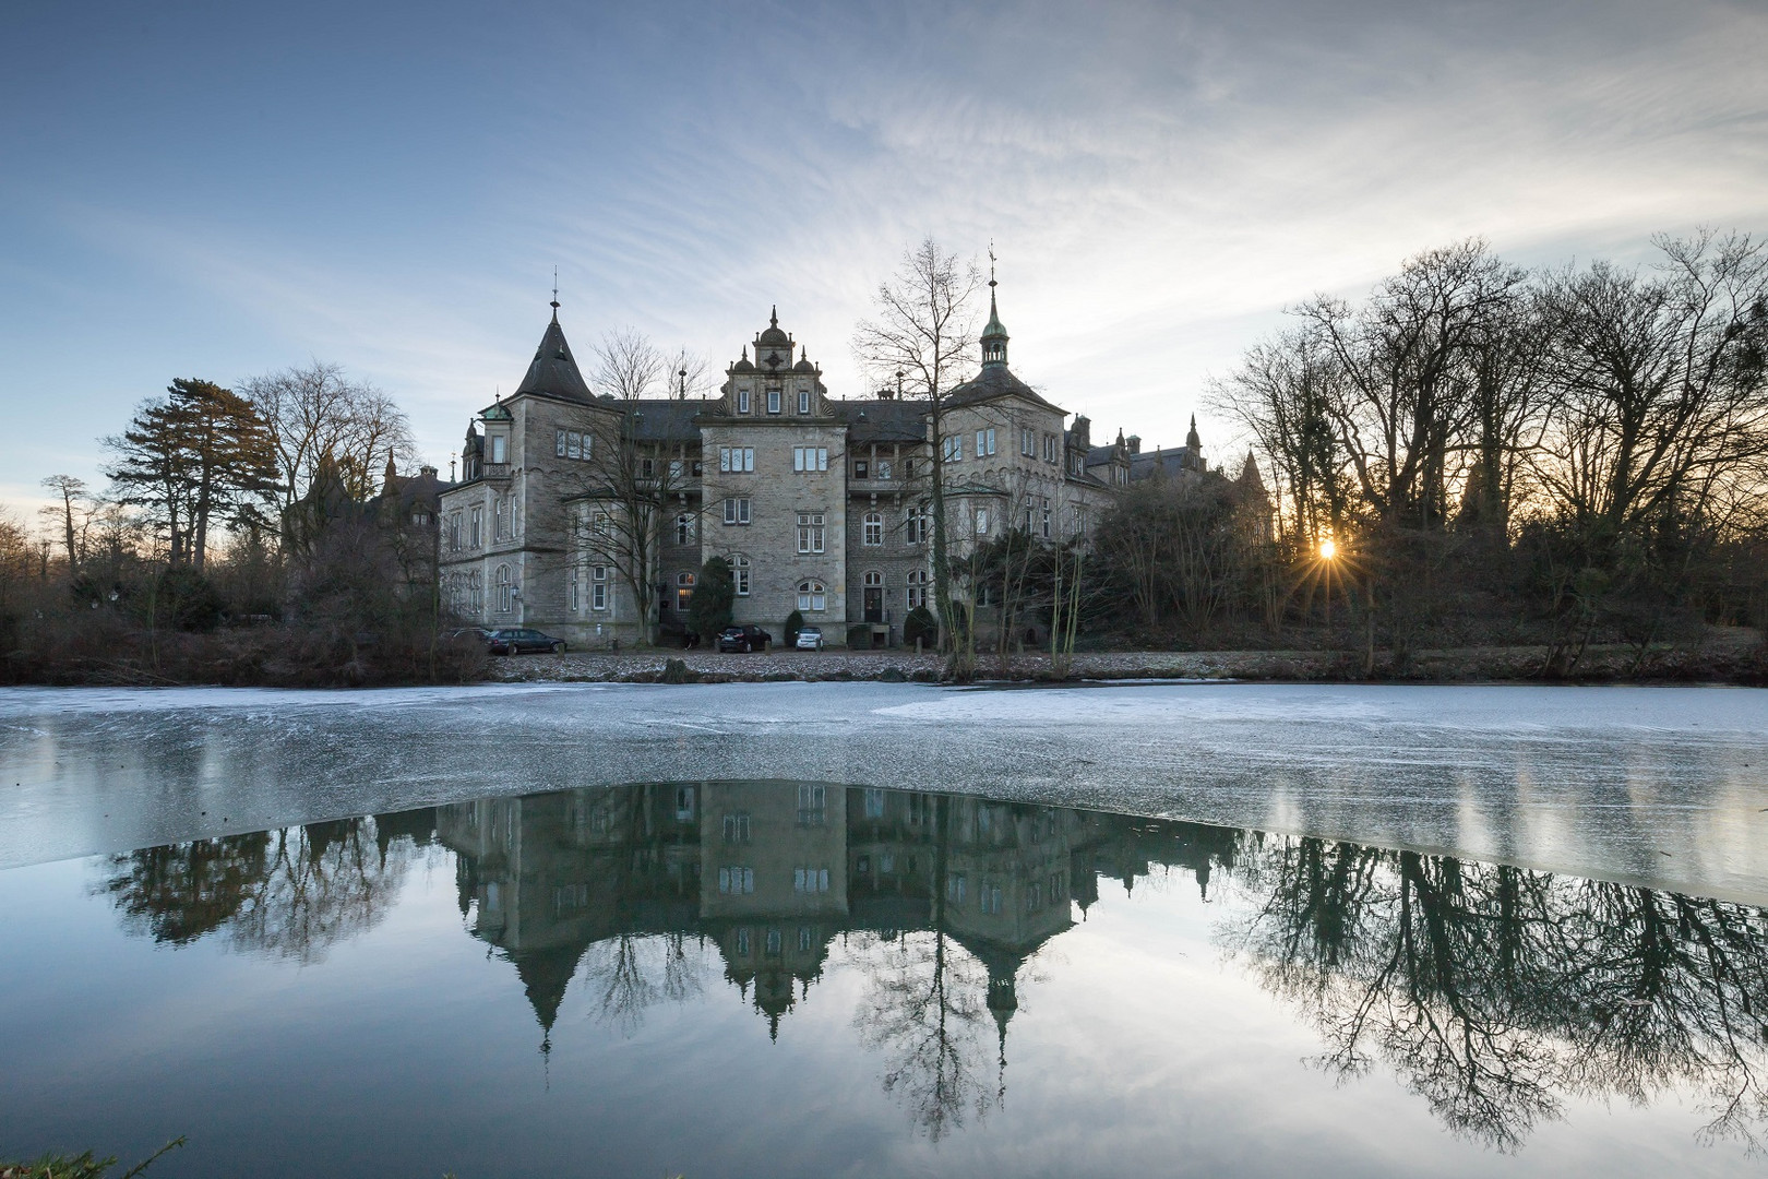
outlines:
[[1457, 1133], [1513, 1151], [1561, 1094], [1687, 1085], [1706, 1138], [1759, 1145], [1759, 909], [1319, 840], [1250, 850], [1223, 933], [1310, 1013], [1322, 1066], [1384, 1061]]

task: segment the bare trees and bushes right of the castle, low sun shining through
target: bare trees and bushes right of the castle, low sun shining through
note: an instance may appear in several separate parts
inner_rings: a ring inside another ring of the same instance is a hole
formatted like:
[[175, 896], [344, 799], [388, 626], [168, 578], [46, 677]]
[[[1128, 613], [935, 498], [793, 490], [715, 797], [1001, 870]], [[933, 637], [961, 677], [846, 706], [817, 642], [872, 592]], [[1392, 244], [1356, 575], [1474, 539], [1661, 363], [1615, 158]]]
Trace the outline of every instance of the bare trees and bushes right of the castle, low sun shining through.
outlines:
[[[1529, 270], [1467, 240], [1292, 308], [1213, 382], [1246, 458], [1139, 481], [1098, 523], [1084, 635], [1337, 647], [1372, 673], [1515, 643], [1574, 675], [1593, 643], [1644, 672], [1715, 624], [1759, 628], [1768, 249], [1655, 249]], [[1052, 553], [981, 560], [1010, 612], [1055, 603]]]

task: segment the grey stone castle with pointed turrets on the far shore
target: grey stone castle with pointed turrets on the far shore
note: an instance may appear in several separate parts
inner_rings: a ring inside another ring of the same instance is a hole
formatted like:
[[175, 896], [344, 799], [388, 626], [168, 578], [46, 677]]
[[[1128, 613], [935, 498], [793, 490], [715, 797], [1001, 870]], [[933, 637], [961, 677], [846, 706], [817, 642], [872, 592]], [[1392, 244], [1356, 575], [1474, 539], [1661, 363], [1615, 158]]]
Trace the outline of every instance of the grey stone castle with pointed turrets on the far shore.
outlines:
[[[690, 399], [598, 396], [552, 308], [440, 495], [444, 597], [481, 626], [587, 647], [679, 633], [702, 564], [723, 557], [735, 622], [780, 640], [797, 612], [829, 645], [886, 647], [935, 605], [934, 461], [953, 557], [1013, 529], [1084, 537], [1132, 477], [1167, 465], [1121, 431], [1093, 445], [1086, 417], [1013, 375], [994, 290], [981, 368], [942, 398], [937, 438], [926, 399], [831, 396], [778, 309], [716, 396]], [[1195, 422], [1185, 456], [1176, 468], [1204, 470]]]

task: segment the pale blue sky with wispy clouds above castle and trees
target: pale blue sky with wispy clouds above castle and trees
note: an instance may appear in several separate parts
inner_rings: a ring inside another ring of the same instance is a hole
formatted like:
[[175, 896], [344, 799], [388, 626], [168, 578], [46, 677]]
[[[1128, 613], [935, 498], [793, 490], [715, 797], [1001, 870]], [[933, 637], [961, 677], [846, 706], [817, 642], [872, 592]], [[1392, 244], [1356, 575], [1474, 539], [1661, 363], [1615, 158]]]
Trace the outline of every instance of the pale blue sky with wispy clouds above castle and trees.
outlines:
[[444, 472], [559, 274], [580, 357], [850, 350], [925, 237], [1094, 438], [1238, 467], [1211, 378], [1483, 237], [1768, 232], [1768, 4], [48, 4], [0, 35], [0, 504], [175, 377], [332, 361]]

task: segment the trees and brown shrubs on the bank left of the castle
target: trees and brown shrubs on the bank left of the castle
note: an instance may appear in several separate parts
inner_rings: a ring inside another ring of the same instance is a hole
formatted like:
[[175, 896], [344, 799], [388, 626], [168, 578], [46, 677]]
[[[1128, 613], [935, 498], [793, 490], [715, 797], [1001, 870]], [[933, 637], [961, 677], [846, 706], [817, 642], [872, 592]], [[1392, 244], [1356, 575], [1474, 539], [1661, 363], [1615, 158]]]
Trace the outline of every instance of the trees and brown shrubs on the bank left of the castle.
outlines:
[[[438, 642], [433, 520], [392, 493], [405, 412], [339, 366], [179, 378], [101, 440], [106, 484], [0, 516], [0, 673], [385, 682], [476, 673]], [[403, 527], [412, 520], [415, 527]]]

